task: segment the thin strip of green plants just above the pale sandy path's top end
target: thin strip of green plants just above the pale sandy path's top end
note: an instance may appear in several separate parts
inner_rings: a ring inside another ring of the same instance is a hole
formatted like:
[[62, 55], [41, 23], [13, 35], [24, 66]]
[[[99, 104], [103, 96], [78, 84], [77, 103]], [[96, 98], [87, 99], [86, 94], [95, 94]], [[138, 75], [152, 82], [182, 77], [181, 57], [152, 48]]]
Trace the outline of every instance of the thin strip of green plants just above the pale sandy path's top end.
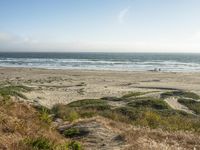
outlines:
[[168, 98], [171, 96], [177, 96], [181, 98], [200, 99], [200, 96], [193, 92], [171, 91], [171, 92], [165, 92], [161, 94], [161, 98]]

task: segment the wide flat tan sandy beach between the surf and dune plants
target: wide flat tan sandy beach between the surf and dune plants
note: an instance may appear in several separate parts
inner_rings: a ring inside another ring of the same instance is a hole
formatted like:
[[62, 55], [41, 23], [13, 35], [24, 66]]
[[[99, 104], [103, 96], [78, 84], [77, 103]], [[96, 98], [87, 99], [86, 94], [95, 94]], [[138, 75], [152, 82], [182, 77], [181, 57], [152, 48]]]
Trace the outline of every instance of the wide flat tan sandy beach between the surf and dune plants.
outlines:
[[37, 102], [49, 108], [57, 103], [68, 104], [80, 99], [105, 96], [119, 97], [136, 91], [156, 91], [154, 96], [170, 89], [200, 94], [200, 73], [197, 72], [128, 72], [2, 67], [0, 68], [0, 83], [33, 87], [33, 91], [25, 93], [28, 101]]

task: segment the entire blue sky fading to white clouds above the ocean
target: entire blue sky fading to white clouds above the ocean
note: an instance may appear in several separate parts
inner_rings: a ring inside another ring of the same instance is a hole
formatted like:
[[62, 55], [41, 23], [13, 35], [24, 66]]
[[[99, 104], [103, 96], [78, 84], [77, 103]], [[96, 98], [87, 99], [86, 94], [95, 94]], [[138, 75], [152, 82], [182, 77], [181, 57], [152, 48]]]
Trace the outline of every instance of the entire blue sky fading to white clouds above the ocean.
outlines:
[[200, 0], [0, 0], [0, 51], [200, 52]]

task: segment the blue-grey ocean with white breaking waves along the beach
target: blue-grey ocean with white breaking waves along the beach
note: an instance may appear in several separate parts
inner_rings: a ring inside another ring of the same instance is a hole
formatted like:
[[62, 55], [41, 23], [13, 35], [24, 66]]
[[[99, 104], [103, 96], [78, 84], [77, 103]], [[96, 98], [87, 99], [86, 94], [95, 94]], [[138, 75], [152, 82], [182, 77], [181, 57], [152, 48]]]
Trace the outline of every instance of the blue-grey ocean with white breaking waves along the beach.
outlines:
[[200, 54], [1, 52], [1, 67], [147, 71], [200, 71]]

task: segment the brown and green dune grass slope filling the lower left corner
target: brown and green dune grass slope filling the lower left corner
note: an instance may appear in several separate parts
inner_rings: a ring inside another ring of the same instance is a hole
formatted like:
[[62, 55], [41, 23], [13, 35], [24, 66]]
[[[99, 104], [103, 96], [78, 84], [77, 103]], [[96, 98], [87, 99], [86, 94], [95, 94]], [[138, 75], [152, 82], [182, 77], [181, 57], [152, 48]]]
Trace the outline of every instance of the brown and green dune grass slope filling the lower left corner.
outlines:
[[[69, 141], [51, 126], [50, 110], [33, 107], [25, 102], [12, 101], [11, 97], [25, 98], [25, 86], [0, 87], [0, 149], [21, 150], [81, 150], [76, 141]], [[8, 102], [9, 103], [5, 103]]]

